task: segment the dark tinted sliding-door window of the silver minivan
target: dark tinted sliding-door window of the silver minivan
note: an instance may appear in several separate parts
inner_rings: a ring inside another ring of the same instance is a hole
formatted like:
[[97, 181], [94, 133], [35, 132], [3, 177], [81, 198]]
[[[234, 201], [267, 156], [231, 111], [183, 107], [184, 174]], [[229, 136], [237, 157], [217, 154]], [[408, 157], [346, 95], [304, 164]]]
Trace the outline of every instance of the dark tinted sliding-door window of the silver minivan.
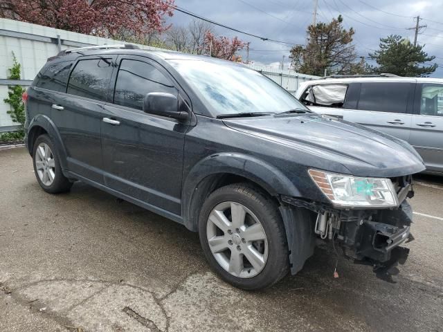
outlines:
[[407, 113], [409, 91], [409, 83], [361, 83], [357, 109]]

